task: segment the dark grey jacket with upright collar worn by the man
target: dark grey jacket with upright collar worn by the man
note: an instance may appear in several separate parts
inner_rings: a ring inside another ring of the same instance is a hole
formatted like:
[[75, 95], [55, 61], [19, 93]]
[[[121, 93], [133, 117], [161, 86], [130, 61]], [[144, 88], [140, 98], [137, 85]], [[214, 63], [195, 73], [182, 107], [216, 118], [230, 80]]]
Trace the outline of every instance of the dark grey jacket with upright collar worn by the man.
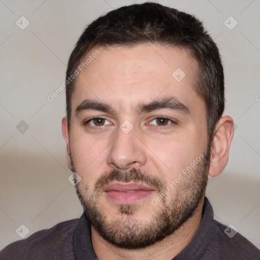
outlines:
[[[83, 214], [8, 245], [0, 251], [0, 260], [95, 260], [90, 232]], [[199, 230], [173, 259], [260, 260], [260, 250], [239, 233], [232, 237], [233, 232], [213, 219], [213, 209], [205, 198]]]

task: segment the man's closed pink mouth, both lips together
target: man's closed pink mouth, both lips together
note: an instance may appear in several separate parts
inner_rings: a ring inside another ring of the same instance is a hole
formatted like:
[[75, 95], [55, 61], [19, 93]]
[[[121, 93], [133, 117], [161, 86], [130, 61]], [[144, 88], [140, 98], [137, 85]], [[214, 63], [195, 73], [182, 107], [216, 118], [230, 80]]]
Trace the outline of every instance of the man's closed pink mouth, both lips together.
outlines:
[[148, 197], [154, 189], [141, 183], [114, 182], [104, 189], [107, 198], [115, 204], [134, 204]]

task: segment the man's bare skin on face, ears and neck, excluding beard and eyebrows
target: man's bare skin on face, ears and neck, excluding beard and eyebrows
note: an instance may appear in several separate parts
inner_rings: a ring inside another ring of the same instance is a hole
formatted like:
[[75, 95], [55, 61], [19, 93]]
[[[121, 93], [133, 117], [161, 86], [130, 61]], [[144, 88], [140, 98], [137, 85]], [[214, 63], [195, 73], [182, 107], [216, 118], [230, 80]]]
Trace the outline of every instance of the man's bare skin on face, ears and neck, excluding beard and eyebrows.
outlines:
[[[91, 54], [96, 48], [89, 51]], [[111, 170], [140, 169], [149, 176], [156, 176], [169, 185], [185, 166], [191, 164], [207, 148], [206, 107], [193, 90], [195, 62], [183, 49], [139, 45], [133, 48], [98, 48], [101, 53], [77, 76], [72, 94], [70, 136], [68, 121], [62, 119], [62, 133], [67, 142], [68, 166], [71, 169], [70, 152], [73, 154], [77, 173], [82, 178], [79, 189], [93, 190], [96, 180]], [[186, 76], [177, 82], [172, 73], [180, 68]], [[149, 103], [173, 96], [184, 104], [189, 113], [172, 109], [156, 109], [139, 114], [135, 109], [140, 103]], [[105, 102], [114, 112], [97, 110], [81, 111], [77, 107], [84, 100]], [[95, 126], [94, 116], [106, 119], [104, 125]], [[154, 116], [167, 117], [167, 125], [159, 126]], [[133, 129], [125, 134], [120, 125], [128, 120]], [[173, 120], [173, 121], [171, 121]], [[177, 122], [177, 123], [174, 123]], [[90, 125], [92, 124], [92, 125]], [[90, 127], [87, 127], [90, 126]], [[157, 127], [156, 127], [157, 126]], [[209, 176], [216, 176], [228, 161], [233, 137], [233, 121], [223, 116], [215, 128], [214, 144]], [[178, 185], [171, 189], [166, 201], [176, 196]], [[86, 193], [86, 192], [85, 192]], [[90, 194], [85, 194], [90, 196]], [[151, 204], [158, 193], [152, 192], [137, 204], [139, 210], [126, 218], [148, 223], [160, 210]], [[108, 220], [120, 219], [118, 205], [105, 195], [98, 203]], [[102, 259], [172, 259], [192, 239], [202, 218], [203, 201], [193, 216], [174, 234], [144, 249], [122, 249], [104, 240], [91, 228], [91, 239], [96, 255]]]

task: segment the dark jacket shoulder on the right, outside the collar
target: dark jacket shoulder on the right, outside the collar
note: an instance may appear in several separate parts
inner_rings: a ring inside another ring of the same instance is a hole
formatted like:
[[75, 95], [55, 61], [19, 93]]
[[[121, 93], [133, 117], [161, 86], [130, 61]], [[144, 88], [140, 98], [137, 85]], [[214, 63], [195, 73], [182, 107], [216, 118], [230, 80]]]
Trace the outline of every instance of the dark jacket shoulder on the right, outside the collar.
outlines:
[[221, 259], [260, 259], [260, 250], [230, 226], [212, 221]]

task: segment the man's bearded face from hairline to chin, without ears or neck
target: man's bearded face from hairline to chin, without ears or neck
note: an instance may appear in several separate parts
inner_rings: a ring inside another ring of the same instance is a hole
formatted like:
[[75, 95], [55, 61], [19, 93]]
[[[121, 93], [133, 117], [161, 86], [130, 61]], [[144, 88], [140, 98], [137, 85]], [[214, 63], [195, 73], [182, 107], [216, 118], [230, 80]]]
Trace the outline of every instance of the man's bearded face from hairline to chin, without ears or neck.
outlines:
[[193, 90], [196, 62], [158, 45], [99, 50], [72, 94], [77, 193], [103, 238], [144, 247], [178, 229], [204, 196], [207, 123]]

